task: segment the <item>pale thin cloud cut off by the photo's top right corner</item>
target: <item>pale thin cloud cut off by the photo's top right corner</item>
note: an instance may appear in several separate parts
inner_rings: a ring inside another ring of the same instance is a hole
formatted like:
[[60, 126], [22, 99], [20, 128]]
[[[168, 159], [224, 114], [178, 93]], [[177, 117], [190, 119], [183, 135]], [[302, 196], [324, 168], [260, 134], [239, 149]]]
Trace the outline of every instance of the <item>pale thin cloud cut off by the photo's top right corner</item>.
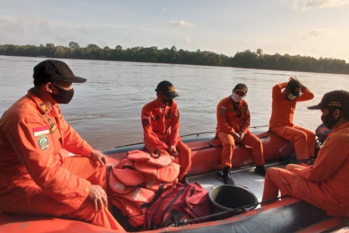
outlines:
[[349, 5], [349, 0], [291, 0], [292, 8], [305, 11], [313, 8], [334, 8]]

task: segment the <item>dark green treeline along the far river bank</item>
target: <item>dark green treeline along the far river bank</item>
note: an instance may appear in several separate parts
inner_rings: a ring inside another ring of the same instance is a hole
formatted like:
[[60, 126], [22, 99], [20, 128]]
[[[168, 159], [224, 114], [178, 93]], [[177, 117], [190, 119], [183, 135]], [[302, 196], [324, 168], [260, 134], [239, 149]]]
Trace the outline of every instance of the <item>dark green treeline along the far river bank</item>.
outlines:
[[231, 66], [242, 68], [256, 68], [269, 70], [304, 71], [319, 73], [349, 74], [349, 63], [345, 60], [322, 58], [316, 59], [309, 56], [290, 56], [289, 54], [273, 55], [263, 53], [262, 49], [256, 52], [245, 50], [237, 52], [235, 56], [229, 57], [224, 54], [217, 54], [209, 51], [177, 50], [176, 46], [171, 49], [158, 49], [157, 47], [143, 48], [134, 47], [122, 49], [120, 45], [115, 49], [108, 46], [99, 48], [95, 44], [88, 44], [86, 48], [81, 48], [78, 43], [71, 41], [68, 47], [55, 46], [47, 43], [46, 46], [35, 45], [0, 45], [0, 55], [24, 56], [48, 58], [74, 58], [93, 60], [113, 60], [113, 61], [140, 61], [156, 63], [175, 63], [189, 65], [209, 65], [209, 66]]

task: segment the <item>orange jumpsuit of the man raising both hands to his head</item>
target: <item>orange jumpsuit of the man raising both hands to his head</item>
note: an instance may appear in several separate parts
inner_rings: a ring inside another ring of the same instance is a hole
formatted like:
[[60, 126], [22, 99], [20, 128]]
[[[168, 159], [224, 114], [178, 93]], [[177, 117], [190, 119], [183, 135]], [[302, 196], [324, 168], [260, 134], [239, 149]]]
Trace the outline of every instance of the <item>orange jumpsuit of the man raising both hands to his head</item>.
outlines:
[[302, 96], [296, 96], [289, 100], [285, 90], [287, 82], [279, 83], [273, 87], [272, 116], [269, 121], [269, 129], [277, 136], [293, 141], [297, 159], [309, 159], [314, 156], [315, 133], [293, 124], [293, 115], [296, 103], [314, 98], [314, 94], [308, 89], [302, 89]]

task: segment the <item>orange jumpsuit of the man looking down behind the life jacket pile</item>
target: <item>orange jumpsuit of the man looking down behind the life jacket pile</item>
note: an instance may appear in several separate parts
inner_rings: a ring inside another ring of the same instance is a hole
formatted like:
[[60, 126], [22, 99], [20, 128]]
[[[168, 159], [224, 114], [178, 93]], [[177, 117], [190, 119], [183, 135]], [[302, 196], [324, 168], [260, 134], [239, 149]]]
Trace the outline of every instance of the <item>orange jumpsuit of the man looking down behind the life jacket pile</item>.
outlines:
[[[147, 103], [142, 108], [142, 125], [144, 130], [144, 145], [154, 153], [155, 149], [161, 154], [169, 154], [166, 150], [176, 146], [179, 152], [179, 179], [190, 170], [192, 163], [191, 150], [179, 137], [179, 111], [177, 103], [165, 106], [162, 111], [157, 99]], [[171, 130], [170, 130], [171, 127]]]

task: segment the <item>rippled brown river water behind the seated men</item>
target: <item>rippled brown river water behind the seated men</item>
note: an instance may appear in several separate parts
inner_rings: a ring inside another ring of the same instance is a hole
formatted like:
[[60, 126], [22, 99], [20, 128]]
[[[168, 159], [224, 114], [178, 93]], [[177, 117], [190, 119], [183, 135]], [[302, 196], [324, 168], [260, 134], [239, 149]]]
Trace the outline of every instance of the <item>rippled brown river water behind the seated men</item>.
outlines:
[[[33, 67], [45, 58], [0, 56], [0, 116], [33, 86]], [[214, 131], [218, 102], [245, 83], [251, 126], [269, 123], [272, 87], [296, 75], [315, 95], [297, 103], [295, 124], [315, 130], [320, 110], [307, 110], [331, 90], [349, 90], [349, 75], [232, 67], [61, 59], [74, 74], [87, 78], [73, 84], [74, 97], [61, 104], [66, 121], [95, 149], [104, 150], [143, 141], [141, 109], [156, 98], [157, 83], [168, 80], [181, 96], [180, 135]]]

